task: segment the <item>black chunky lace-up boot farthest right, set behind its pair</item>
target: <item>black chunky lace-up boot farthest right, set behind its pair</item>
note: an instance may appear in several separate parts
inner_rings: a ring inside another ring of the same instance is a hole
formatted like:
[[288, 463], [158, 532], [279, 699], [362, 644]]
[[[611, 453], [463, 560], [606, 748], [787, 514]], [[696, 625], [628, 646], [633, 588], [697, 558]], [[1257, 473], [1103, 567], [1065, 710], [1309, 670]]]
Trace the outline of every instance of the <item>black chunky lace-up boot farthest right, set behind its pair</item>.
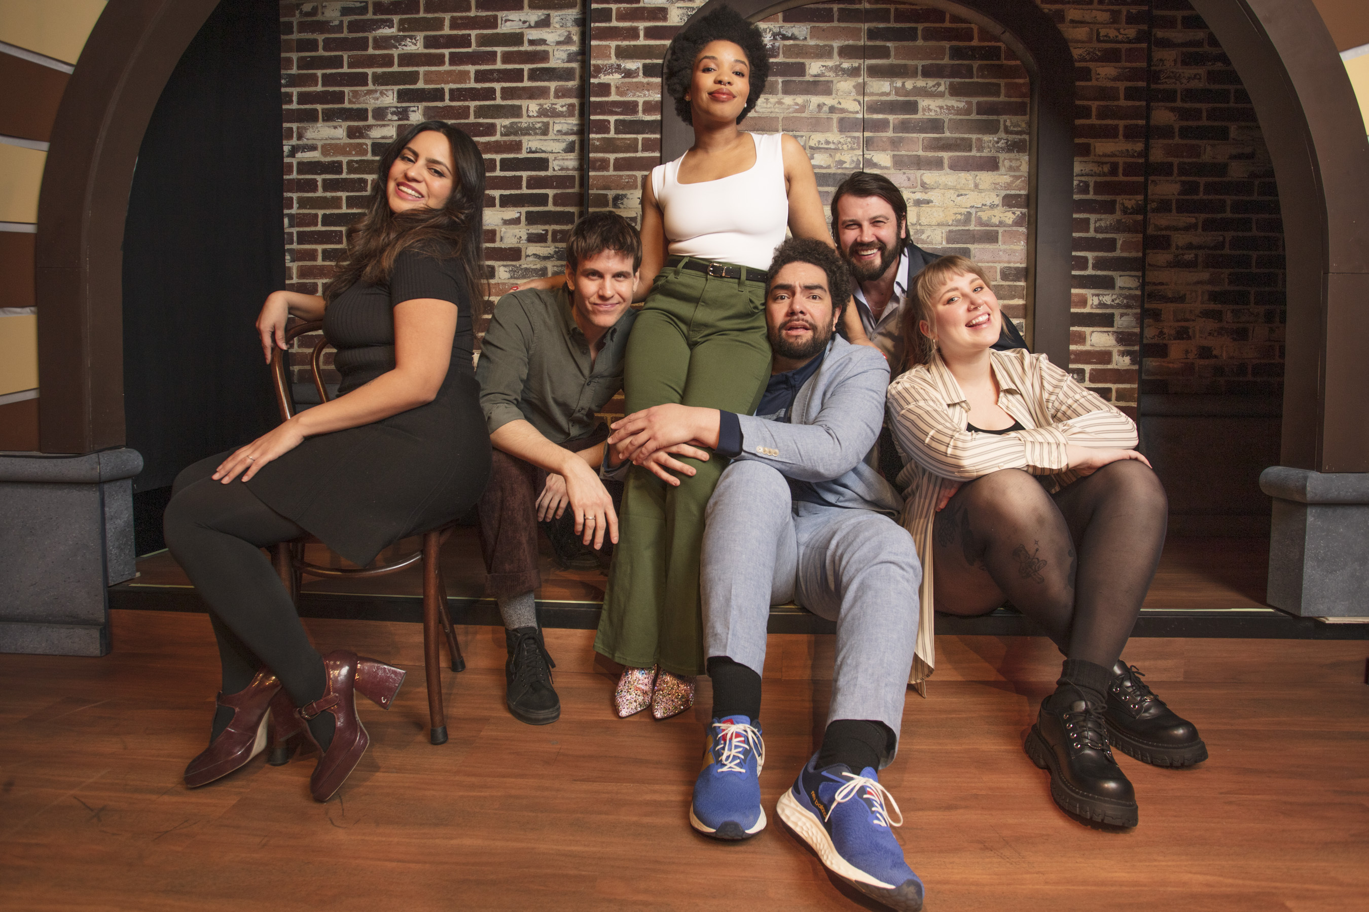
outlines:
[[1198, 726], [1181, 719], [1140, 680], [1136, 666], [1117, 660], [1108, 688], [1109, 741], [1142, 763], [1192, 766], [1207, 759]]

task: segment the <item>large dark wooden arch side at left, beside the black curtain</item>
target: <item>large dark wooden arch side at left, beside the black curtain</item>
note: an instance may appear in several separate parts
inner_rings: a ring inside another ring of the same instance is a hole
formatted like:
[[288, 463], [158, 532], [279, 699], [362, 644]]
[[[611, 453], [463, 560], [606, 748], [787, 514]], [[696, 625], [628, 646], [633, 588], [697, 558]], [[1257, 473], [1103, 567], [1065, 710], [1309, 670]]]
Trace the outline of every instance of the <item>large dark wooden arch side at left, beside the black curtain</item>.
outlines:
[[123, 223], [138, 148], [171, 71], [218, 0], [110, 3], [52, 127], [38, 196], [38, 446], [125, 443]]

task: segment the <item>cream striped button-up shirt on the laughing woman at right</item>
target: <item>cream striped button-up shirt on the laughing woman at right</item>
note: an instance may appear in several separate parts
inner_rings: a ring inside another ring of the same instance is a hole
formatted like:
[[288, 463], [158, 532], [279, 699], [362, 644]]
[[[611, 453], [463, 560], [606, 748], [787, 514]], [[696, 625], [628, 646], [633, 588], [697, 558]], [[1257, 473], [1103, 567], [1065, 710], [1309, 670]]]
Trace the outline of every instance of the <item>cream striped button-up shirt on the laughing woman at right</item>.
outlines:
[[1136, 446], [1136, 425], [1125, 414], [1090, 392], [1050, 362], [1025, 349], [990, 351], [998, 380], [998, 405], [1017, 418], [1023, 431], [975, 433], [967, 431], [969, 402], [941, 354], [905, 372], [888, 387], [888, 425], [904, 470], [902, 524], [917, 546], [923, 565], [919, 589], [921, 619], [909, 682], [925, 696], [924, 681], [935, 665], [932, 621], [932, 521], [943, 487], [973, 481], [999, 469], [1023, 469], [1050, 476], [1058, 491], [1079, 477], [1069, 470], [1066, 444], [1087, 447]]

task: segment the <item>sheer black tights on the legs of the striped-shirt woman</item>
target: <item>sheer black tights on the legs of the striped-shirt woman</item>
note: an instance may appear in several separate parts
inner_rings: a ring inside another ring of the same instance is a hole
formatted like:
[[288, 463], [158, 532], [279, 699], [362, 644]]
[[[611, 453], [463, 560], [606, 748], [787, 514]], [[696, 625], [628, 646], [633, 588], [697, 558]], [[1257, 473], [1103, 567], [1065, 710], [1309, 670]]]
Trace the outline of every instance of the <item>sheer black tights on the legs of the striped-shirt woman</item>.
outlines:
[[1051, 495], [1003, 469], [967, 483], [932, 526], [936, 610], [1009, 600], [1069, 659], [1110, 667], [1165, 543], [1169, 505], [1143, 462], [1110, 462]]

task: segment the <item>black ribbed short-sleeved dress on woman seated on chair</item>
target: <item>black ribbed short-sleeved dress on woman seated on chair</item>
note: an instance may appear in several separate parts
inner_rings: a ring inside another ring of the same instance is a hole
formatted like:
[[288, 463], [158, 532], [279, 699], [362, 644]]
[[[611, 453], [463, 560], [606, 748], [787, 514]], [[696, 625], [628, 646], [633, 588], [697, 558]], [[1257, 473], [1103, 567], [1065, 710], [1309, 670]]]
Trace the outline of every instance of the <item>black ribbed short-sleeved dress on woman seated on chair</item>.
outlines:
[[415, 298], [457, 309], [437, 398], [375, 424], [307, 438], [246, 483], [268, 507], [359, 565], [470, 510], [490, 476], [490, 435], [471, 365], [471, 302], [455, 261], [405, 250], [387, 284], [357, 283], [329, 304], [323, 335], [337, 347], [338, 395], [394, 369], [393, 309]]

